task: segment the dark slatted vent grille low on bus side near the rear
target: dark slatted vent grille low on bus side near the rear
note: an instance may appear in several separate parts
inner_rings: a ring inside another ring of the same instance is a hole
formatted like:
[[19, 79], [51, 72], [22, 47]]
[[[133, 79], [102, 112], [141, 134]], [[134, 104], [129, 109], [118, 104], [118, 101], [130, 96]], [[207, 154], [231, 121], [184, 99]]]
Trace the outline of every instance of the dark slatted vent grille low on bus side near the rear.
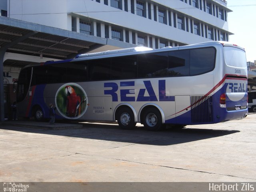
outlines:
[[190, 96], [192, 123], [211, 123], [212, 96]]

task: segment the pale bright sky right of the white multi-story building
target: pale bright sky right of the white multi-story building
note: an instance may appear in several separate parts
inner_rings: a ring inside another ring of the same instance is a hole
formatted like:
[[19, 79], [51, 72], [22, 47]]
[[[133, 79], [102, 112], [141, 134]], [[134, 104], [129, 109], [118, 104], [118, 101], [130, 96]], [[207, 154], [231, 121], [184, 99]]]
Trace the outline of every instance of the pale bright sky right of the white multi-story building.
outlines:
[[[246, 51], [247, 61], [256, 60], [256, 0], [227, 0], [229, 41]], [[250, 6], [248, 6], [250, 5]]]

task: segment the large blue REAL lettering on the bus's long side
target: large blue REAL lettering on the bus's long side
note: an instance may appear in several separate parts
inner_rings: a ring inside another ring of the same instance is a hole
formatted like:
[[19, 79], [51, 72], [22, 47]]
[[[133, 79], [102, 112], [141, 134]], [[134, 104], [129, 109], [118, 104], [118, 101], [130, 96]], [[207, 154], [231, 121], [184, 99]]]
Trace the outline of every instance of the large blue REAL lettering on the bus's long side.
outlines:
[[[121, 102], [138, 102], [138, 101], [174, 101], [174, 96], [166, 96], [166, 85], [165, 80], [158, 80], [158, 92], [155, 92], [154, 88], [150, 80], [143, 81], [145, 88], [141, 88], [139, 90], [137, 98], [135, 96], [131, 96], [131, 94], [135, 94], [134, 89], [127, 89], [127, 86], [135, 86], [135, 81], [122, 81], [118, 85], [115, 82], [107, 82], [104, 83], [104, 88], [112, 88], [108, 90], [104, 90], [105, 95], [111, 95], [113, 102], [118, 102], [118, 94], [117, 91], [120, 87], [120, 101]], [[145, 92], [148, 92], [148, 96], [145, 96]], [[158, 93], [159, 97], [157, 98], [156, 93]], [[129, 94], [129, 96], [127, 96]]]

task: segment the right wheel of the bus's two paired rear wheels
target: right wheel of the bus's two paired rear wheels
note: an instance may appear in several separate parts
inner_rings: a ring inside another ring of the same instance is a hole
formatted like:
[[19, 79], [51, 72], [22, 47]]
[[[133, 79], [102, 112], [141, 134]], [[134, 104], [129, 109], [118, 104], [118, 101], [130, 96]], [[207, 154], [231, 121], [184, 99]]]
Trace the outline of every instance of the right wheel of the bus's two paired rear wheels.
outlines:
[[159, 131], [162, 129], [162, 116], [158, 109], [147, 108], [142, 114], [144, 127], [149, 131]]

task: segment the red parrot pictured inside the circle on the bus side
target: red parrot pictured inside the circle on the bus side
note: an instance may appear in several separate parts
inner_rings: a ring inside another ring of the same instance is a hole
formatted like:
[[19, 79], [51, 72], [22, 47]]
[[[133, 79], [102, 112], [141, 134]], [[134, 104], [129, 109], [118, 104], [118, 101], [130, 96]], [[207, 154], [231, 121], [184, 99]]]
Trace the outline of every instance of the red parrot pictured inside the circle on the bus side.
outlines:
[[76, 117], [81, 114], [81, 104], [86, 101], [82, 100], [80, 96], [76, 94], [76, 91], [72, 86], [66, 86], [65, 92], [66, 98], [66, 116]]

